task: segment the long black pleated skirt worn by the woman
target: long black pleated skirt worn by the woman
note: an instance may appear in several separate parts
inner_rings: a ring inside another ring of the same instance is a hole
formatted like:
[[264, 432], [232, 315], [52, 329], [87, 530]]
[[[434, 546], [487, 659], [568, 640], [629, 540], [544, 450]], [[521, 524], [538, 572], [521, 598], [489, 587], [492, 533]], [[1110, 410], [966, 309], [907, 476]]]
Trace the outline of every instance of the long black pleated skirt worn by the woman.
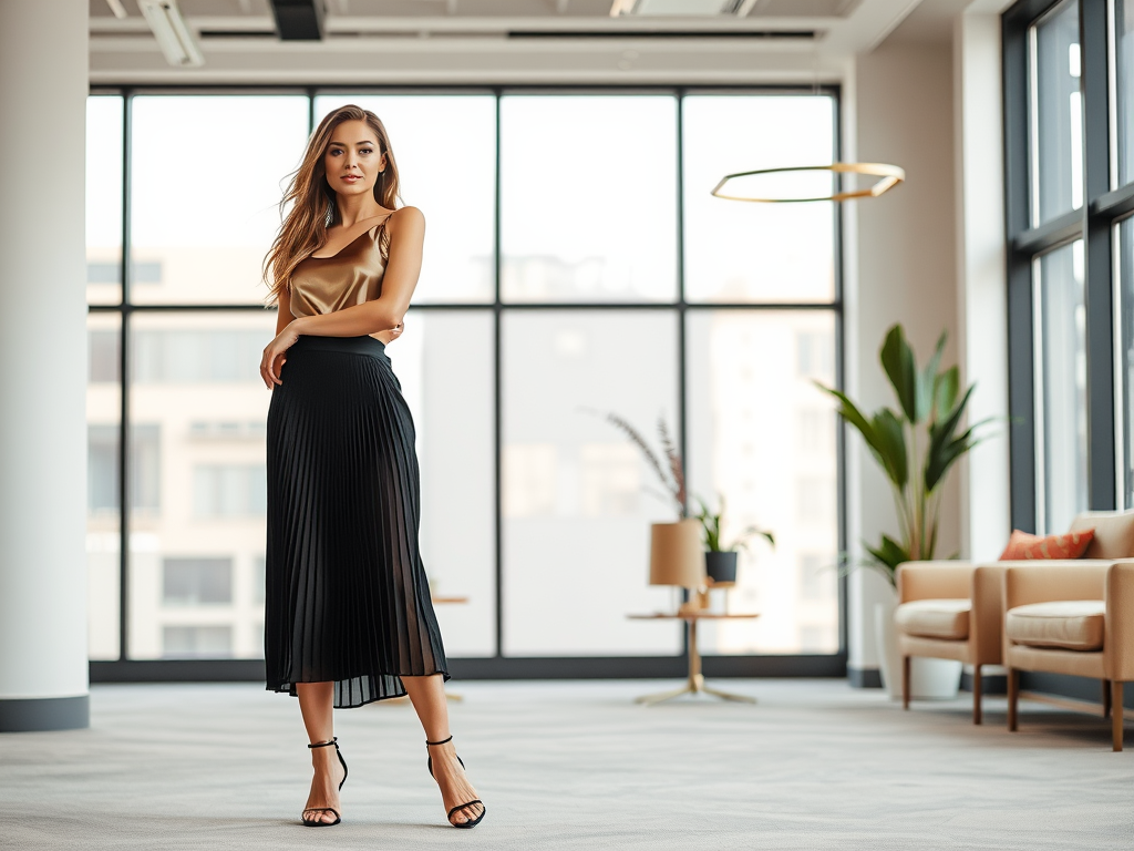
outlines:
[[414, 424], [373, 337], [299, 337], [268, 411], [268, 689], [347, 708], [449, 679], [418, 551]]

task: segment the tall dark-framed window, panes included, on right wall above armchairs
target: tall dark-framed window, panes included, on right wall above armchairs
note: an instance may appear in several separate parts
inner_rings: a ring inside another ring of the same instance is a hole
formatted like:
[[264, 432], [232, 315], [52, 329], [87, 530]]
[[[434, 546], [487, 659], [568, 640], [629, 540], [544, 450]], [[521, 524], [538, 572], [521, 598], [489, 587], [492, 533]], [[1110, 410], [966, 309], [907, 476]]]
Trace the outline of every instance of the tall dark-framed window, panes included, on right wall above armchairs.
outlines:
[[1134, 506], [1131, 10], [1019, 0], [1002, 17], [1018, 529]]

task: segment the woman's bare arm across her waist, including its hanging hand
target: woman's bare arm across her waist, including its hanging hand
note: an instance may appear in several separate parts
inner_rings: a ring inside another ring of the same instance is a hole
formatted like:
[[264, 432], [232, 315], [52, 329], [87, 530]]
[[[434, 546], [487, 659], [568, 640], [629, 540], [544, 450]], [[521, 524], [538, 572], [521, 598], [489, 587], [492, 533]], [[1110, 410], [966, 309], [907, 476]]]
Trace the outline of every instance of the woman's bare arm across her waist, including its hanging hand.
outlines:
[[260, 376], [265, 387], [271, 389], [274, 385], [282, 384], [279, 372], [286, 359], [281, 355], [295, 345], [301, 335], [362, 337], [400, 328], [421, 273], [425, 217], [416, 207], [403, 207], [390, 213], [387, 227], [390, 234], [390, 258], [382, 277], [382, 294], [378, 298], [331, 313], [299, 317], [288, 322], [284, 320], [290, 319], [290, 300], [286, 314], [284, 301], [280, 300], [276, 339], [264, 348], [260, 361]]

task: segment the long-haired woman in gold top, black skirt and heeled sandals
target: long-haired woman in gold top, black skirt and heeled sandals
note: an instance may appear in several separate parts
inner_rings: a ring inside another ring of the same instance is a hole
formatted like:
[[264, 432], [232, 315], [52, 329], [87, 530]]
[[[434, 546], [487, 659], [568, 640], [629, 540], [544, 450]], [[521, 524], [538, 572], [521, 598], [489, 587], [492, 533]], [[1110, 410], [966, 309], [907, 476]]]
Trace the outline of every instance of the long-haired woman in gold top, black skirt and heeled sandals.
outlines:
[[414, 426], [386, 355], [425, 233], [421, 211], [397, 202], [382, 123], [337, 109], [307, 143], [264, 261], [279, 304], [260, 362], [272, 390], [264, 658], [268, 688], [299, 698], [311, 827], [340, 821], [347, 766], [332, 708], [407, 693], [449, 823], [484, 817], [449, 733], [449, 674], [417, 547]]

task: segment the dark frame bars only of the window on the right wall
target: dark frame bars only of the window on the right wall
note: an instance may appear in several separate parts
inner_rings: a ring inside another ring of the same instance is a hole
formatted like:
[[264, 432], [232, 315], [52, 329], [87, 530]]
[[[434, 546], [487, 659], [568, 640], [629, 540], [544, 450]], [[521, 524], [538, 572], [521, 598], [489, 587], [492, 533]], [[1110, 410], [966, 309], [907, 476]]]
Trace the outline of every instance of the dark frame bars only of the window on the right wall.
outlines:
[[1078, 0], [1083, 103], [1083, 205], [1031, 226], [1029, 31], [1063, 0], [1019, 0], [1001, 16], [1005, 234], [1007, 238], [1008, 408], [1014, 529], [1035, 531], [1035, 352], [1033, 262], [1083, 239], [1086, 303], [1088, 508], [1118, 504], [1115, 405], [1114, 230], [1134, 211], [1134, 183], [1110, 188], [1110, 0]]

